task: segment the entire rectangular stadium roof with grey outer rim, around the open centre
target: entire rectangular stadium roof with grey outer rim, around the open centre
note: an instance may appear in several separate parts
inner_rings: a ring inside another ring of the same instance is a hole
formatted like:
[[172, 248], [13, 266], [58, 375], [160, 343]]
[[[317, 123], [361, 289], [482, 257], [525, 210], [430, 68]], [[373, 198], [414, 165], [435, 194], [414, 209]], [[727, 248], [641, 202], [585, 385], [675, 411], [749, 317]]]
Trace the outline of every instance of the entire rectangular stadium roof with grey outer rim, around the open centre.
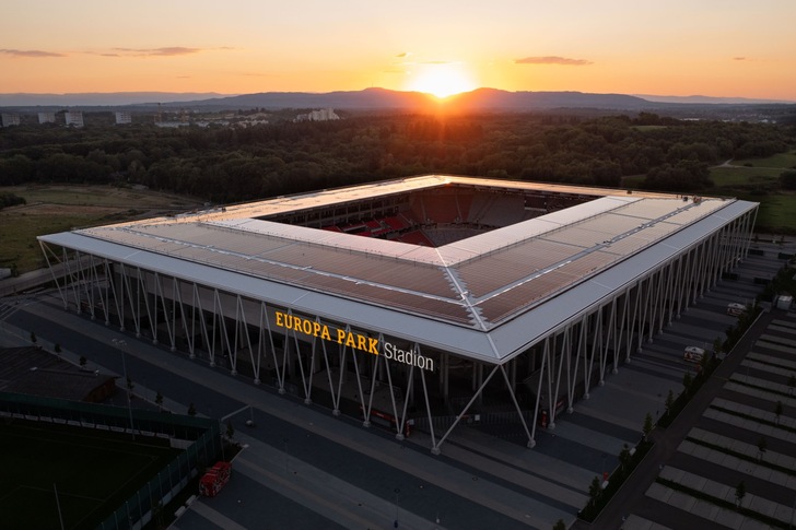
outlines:
[[[595, 199], [437, 248], [261, 219], [446, 186]], [[756, 205], [426, 176], [39, 239], [501, 362]]]

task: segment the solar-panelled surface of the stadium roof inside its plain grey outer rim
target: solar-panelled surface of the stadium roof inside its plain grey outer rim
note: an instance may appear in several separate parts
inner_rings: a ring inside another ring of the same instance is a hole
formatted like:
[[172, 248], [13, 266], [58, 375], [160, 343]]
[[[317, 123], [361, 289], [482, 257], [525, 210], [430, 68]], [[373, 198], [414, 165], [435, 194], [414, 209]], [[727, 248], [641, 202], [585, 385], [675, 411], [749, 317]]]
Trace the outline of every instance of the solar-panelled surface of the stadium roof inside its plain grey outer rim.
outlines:
[[[324, 191], [195, 216], [89, 228], [82, 234], [457, 325], [490, 328], [725, 205], [715, 199], [614, 192], [440, 248], [253, 219], [264, 212], [335, 204], [336, 197], [351, 203], [379, 197], [379, 192], [406, 192], [448, 181], [464, 186], [471, 180], [423, 177], [338, 190], [337, 196]], [[508, 186], [475, 181], [490, 189]], [[540, 189], [529, 182], [511, 186]], [[597, 190], [560, 188], [598, 196]]]

